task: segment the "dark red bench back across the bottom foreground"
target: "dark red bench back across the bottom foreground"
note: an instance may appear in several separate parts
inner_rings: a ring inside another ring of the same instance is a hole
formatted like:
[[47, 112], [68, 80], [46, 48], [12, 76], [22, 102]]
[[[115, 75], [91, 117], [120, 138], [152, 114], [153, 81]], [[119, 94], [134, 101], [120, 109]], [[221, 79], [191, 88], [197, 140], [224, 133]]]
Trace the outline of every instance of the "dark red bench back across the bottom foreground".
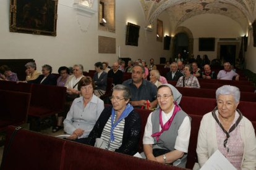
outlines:
[[[6, 146], [14, 127], [7, 131]], [[183, 169], [20, 129], [2, 170], [9, 169]]]

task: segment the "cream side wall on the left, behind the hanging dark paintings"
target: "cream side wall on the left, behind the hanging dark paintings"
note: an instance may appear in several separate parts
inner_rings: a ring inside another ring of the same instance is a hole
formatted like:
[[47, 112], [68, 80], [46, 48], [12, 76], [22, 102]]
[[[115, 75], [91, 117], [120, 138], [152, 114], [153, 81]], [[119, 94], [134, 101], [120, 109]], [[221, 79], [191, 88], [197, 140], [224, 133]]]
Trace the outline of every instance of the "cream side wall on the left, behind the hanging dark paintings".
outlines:
[[[98, 9], [97, 1], [93, 8]], [[132, 12], [131, 10], [132, 9]], [[145, 59], [152, 57], [159, 63], [159, 57], [169, 57], [169, 51], [163, 51], [163, 42], [156, 42], [156, 25], [153, 32], [144, 30], [143, 10], [137, 0], [116, 1], [116, 33], [98, 30], [97, 16], [88, 18], [83, 12], [72, 8], [72, 2], [59, 0], [57, 36], [42, 36], [9, 32], [9, 1], [0, 1], [0, 59], [35, 59], [38, 67], [49, 64], [53, 72], [62, 65], [71, 66], [82, 63], [84, 70], [94, 69], [98, 61], [117, 60], [116, 54], [98, 54], [98, 36], [116, 38], [116, 47], [121, 47], [121, 57]], [[167, 15], [161, 14], [164, 30], [168, 30]], [[140, 25], [139, 47], [126, 46], [127, 22]], [[167, 31], [169, 32], [169, 31]]]

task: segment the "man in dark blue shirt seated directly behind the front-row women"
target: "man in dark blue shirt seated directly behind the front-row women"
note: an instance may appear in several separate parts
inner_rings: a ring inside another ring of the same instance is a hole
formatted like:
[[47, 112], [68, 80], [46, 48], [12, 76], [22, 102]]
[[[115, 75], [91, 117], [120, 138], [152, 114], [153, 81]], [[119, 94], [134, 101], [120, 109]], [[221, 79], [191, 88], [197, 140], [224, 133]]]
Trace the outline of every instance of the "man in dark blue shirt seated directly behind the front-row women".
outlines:
[[143, 79], [145, 70], [142, 66], [136, 65], [132, 68], [132, 79], [128, 79], [122, 83], [127, 86], [132, 93], [130, 104], [137, 108], [155, 108], [157, 104], [156, 86], [146, 79]]

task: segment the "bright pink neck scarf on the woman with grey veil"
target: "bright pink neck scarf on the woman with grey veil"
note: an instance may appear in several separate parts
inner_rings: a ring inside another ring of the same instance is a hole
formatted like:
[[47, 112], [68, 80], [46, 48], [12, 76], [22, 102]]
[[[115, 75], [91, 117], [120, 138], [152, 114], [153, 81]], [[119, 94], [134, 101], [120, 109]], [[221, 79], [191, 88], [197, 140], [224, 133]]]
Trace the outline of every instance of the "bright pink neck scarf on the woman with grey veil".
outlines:
[[163, 120], [162, 120], [162, 110], [160, 108], [160, 114], [159, 114], [159, 119], [160, 119], [160, 126], [161, 126], [161, 131], [160, 132], [156, 132], [155, 134], [152, 134], [151, 137], [156, 137], [156, 141], [158, 141], [160, 135], [163, 133], [163, 131], [167, 131], [169, 129], [169, 127], [171, 126], [171, 123], [173, 122], [174, 116], [176, 115], [176, 113], [181, 110], [181, 108], [179, 108], [176, 104], [176, 102], [174, 103], [174, 111], [173, 111], [173, 115], [171, 116], [171, 118], [169, 118], [169, 120], [163, 125]]

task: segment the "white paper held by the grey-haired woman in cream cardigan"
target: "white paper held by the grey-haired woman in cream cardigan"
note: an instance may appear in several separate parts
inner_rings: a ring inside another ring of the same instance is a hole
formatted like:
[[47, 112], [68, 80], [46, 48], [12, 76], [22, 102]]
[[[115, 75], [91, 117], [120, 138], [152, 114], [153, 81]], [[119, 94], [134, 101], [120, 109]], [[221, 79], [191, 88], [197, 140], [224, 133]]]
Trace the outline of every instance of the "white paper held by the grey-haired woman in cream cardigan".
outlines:
[[207, 162], [205, 164], [203, 164], [202, 168], [200, 170], [236, 170], [236, 168], [234, 168], [233, 164], [231, 164], [227, 158], [225, 158], [224, 155], [222, 155], [222, 153], [220, 152], [220, 150], [216, 150], [215, 153], [213, 153], [213, 155], [211, 155], [211, 157], [207, 160]]

